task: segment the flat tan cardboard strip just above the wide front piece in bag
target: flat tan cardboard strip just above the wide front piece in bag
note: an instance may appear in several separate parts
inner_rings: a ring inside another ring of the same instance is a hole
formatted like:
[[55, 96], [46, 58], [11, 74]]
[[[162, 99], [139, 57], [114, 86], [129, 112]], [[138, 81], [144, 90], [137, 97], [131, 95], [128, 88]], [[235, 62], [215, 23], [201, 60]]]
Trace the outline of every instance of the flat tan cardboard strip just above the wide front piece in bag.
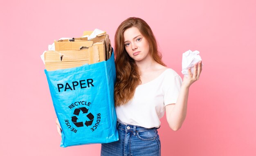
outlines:
[[80, 50], [82, 47], [91, 47], [93, 41], [58, 42], [54, 41], [55, 50]]

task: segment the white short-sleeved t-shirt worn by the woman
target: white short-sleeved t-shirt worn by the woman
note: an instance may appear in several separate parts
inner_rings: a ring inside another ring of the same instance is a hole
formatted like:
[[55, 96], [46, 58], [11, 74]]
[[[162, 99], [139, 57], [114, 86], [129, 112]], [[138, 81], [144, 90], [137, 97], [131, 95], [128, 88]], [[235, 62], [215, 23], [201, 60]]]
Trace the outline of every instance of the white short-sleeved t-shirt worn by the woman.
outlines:
[[115, 107], [117, 121], [145, 128], [159, 127], [165, 106], [176, 103], [181, 85], [179, 74], [173, 69], [166, 69], [154, 80], [138, 85], [128, 103]]

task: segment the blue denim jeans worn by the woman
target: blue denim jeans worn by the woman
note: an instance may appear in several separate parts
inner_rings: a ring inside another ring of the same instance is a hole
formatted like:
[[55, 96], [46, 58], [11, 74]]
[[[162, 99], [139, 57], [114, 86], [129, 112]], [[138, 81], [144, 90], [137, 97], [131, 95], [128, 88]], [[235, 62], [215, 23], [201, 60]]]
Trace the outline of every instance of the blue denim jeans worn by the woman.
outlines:
[[117, 122], [119, 140], [101, 144], [101, 156], [161, 156], [157, 129]]

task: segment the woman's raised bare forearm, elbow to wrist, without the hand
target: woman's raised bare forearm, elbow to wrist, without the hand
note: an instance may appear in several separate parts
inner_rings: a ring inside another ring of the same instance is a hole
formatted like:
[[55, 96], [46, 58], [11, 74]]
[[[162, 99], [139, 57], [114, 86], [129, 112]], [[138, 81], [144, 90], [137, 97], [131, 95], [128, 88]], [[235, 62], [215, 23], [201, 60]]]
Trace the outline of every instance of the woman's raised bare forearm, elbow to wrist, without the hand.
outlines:
[[168, 123], [171, 129], [178, 130], [186, 118], [189, 87], [182, 85], [177, 102], [168, 116]]

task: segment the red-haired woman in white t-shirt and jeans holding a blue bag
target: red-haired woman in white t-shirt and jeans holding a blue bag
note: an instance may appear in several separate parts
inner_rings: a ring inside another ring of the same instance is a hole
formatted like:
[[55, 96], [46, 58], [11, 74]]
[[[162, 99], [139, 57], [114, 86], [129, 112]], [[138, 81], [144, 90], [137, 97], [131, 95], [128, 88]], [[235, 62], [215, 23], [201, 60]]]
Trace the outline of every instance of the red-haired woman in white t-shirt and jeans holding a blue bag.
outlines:
[[[174, 131], [186, 117], [189, 87], [199, 79], [194, 73], [181, 77], [162, 62], [155, 36], [140, 18], [128, 18], [115, 34], [115, 108], [119, 141], [101, 144], [101, 156], [160, 156], [157, 129], [164, 116]], [[60, 127], [56, 120], [58, 132]]]

